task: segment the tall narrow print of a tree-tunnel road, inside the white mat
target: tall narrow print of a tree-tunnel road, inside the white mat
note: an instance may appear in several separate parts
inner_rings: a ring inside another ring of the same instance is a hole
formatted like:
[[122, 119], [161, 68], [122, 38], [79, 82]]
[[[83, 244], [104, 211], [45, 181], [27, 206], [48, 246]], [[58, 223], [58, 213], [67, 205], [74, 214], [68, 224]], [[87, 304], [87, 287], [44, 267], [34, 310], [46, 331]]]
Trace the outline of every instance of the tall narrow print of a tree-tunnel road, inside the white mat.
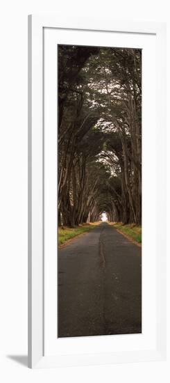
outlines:
[[58, 45], [58, 337], [142, 332], [142, 49]]

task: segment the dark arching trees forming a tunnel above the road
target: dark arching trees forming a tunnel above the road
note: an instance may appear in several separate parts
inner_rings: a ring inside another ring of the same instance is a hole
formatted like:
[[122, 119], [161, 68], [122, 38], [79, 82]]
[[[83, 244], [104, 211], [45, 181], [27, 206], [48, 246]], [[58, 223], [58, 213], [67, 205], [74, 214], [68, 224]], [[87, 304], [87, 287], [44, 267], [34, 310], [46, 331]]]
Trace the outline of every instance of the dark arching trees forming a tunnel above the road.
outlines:
[[58, 46], [58, 220], [141, 223], [142, 51]]

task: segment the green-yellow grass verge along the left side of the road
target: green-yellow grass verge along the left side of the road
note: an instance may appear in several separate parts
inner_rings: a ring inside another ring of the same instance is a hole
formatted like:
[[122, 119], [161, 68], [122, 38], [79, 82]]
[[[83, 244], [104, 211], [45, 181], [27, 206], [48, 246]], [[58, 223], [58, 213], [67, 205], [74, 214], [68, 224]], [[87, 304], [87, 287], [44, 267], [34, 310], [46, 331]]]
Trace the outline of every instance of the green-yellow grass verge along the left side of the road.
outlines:
[[77, 235], [87, 233], [99, 225], [99, 223], [100, 222], [94, 222], [93, 224], [83, 224], [76, 226], [76, 228], [58, 228], [58, 246], [65, 244], [65, 242], [71, 240], [71, 238], [74, 238]]

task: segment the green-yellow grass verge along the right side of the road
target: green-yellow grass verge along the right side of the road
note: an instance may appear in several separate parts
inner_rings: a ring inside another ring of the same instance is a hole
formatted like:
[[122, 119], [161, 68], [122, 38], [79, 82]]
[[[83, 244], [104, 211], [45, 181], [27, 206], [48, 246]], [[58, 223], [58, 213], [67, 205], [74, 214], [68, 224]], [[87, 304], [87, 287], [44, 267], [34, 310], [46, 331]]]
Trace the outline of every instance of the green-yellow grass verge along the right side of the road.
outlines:
[[123, 225], [121, 222], [111, 223], [114, 228], [117, 228], [122, 233], [126, 234], [130, 240], [134, 240], [135, 242], [141, 244], [142, 243], [142, 227], [136, 226], [135, 224]]

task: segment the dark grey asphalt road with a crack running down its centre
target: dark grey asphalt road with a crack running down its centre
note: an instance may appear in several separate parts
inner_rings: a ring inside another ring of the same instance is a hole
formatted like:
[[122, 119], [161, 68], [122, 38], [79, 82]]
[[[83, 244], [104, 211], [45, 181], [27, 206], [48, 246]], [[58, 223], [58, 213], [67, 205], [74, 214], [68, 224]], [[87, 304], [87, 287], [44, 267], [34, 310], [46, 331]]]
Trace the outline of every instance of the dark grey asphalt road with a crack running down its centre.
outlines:
[[141, 332], [141, 248], [103, 223], [60, 249], [58, 336]]

